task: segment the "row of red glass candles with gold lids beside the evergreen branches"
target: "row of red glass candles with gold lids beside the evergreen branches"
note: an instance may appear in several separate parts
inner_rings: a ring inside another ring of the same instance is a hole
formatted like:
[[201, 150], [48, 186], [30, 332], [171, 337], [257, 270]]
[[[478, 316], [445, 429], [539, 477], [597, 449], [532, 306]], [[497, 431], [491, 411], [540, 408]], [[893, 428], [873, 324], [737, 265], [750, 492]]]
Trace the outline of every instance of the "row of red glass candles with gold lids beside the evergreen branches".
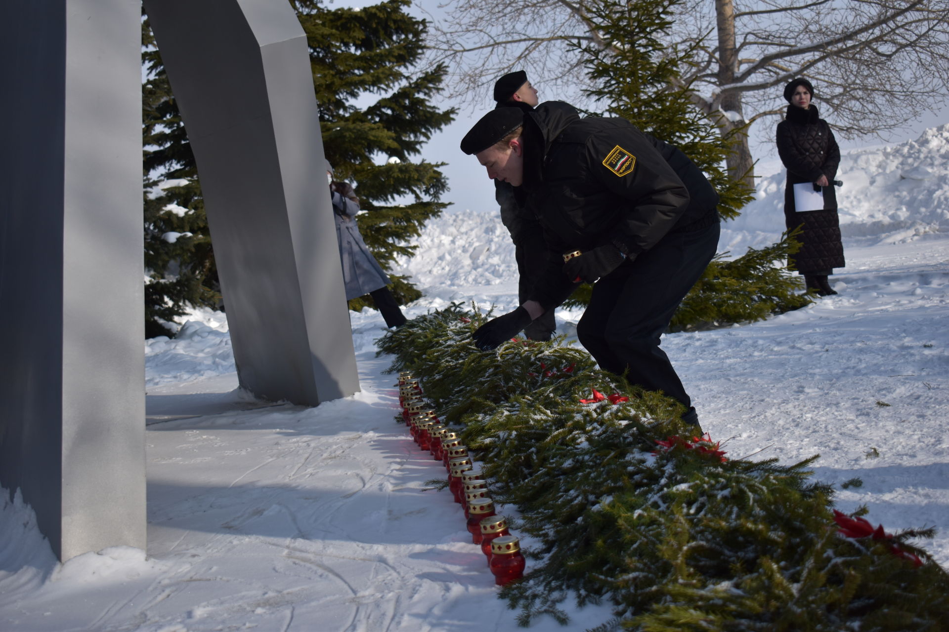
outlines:
[[508, 530], [508, 522], [494, 514], [494, 503], [488, 493], [488, 482], [468, 454], [457, 433], [442, 425], [435, 410], [425, 410], [419, 380], [411, 372], [399, 373], [399, 404], [402, 421], [409, 427], [419, 450], [440, 460], [448, 471], [448, 489], [455, 502], [464, 508], [472, 542], [481, 545], [488, 557], [494, 583], [504, 586], [524, 576], [525, 560], [520, 541]]

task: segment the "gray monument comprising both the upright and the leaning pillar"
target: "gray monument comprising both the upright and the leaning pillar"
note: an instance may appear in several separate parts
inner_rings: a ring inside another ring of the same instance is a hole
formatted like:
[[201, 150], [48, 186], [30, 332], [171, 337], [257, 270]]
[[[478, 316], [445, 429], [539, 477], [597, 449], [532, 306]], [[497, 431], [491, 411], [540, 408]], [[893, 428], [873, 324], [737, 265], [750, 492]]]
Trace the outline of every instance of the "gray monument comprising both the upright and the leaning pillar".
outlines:
[[[241, 385], [359, 388], [306, 36], [286, 0], [145, 3]], [[0, 485], [62, 560], [145, 548], [140, 3], [0, 5]]]

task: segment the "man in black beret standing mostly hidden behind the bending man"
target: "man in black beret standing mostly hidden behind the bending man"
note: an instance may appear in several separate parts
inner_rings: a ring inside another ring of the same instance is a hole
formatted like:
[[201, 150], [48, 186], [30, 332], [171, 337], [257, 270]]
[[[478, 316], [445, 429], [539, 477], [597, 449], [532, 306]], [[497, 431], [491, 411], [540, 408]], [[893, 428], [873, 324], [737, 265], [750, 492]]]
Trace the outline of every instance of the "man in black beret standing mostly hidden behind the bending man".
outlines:
[[[530, 85], [528, 74], [523, 70], [508, 73], [495, 81], [493, 98], [498, 108], [517, 107], [525, 112], [530, 112], [538, 103], [537, 89]], [[495, 180], [494, 199], [501, 208], [501, 223], [508, 228], [514, 243], [517, 297], [523, 303], [547, 265], [544, 238], [533, 213], [518, 206], [510, 184]], [[549, 340], [556, 329], [553, 310], [549, 310], [531, 322], [524, 329], [524, 335], [530, 340]]]

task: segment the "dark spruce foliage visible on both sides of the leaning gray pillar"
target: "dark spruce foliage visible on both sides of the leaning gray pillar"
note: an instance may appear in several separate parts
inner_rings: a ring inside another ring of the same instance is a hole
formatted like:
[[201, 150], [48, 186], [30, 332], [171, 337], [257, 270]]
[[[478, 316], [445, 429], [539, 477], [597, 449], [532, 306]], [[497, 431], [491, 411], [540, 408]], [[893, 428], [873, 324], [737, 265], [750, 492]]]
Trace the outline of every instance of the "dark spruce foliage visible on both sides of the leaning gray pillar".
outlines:
[[[415, 252], [406, 242], [447, 206], [438, 201], [448, 190], [441, 164], [411, 159], [455, 115], [432, 104], [444, 66], [413, 74], [427, 24], [405, 12], [409, 4], [330, 10], [316, 0], [291, 2], [307, 32], [326, 157], [338, 180], [357, 187], [369, 211], [359, 217], [360, 231], [386, 272], [396, 257]], [[169, 334], [162, 321], [189, 305], [223, 306], [195, 157], [147, 18], [142, 45], [145, 323], [154, 336]], [[390, 277], [400, 303], [421, 296], [404, 278]], [[367, 304], [368, 297], [350, 301], [357, 310]]]

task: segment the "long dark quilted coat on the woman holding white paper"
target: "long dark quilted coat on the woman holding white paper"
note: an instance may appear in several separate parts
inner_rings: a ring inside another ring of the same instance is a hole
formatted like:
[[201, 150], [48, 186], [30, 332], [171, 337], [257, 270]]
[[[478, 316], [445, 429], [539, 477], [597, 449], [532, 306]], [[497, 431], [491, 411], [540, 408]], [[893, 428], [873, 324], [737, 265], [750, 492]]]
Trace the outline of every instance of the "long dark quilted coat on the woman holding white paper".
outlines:
[[803, 245], [788, 263], [801, 274], [829, 274], [833, 268], [844, 267], [834, 187], [824, 188], [823, 210], [797, 212], [794, 208], [795, 184], [815, 182], [821, 175], [831, 181], [840, 164], [837, 141], [827, 121], [818, 115], [816, 105], [811, 104], [807, 110], [788, 106], [787, 116], [777, 125], [777, 151], [788, 169], [784, 191], [785, 226], [789, 230], [804, 227], [798, 236]]

